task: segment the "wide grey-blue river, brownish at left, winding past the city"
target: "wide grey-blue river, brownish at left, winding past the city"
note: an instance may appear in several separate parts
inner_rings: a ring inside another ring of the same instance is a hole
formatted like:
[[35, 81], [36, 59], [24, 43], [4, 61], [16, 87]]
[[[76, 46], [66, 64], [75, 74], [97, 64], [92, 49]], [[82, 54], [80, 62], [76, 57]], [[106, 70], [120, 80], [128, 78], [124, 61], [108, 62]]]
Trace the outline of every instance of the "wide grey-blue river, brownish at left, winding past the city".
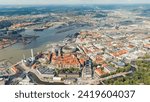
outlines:
[[0, 50], [0, 60], [7, 59], [12, 63], [16, 63], [23, 58], [23, 54], [26, 57], [31, 56], [31, 48], [34, 50], [34, 53], [39, 51], [45, 51], [47, 49], [47, 44], [62, 41], [68, 34], [74, 34], [84, 28], [86, 27], [74, 28], [73, 30], [69, 30], [62, 33], [56, 33], [59, 30], [53, 27], [39, 32], [34, 32], [33, 30], [25, 30], [24, 32], [22, 32], [22, 34], [34, 34], [39, 35], [40, 37], [38, 37], [36, 40], [33, 40], [30, 44], [27, 45], [17, 43], [10, 47]]

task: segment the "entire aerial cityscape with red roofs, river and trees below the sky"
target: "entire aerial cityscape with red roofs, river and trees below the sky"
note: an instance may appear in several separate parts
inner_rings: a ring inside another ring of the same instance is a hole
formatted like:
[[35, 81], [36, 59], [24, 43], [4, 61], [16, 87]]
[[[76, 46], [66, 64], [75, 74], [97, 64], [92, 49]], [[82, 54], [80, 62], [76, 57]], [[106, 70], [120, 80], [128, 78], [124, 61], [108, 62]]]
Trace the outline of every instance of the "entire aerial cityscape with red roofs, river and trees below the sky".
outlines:
[[0, 85], [150, 85], [150, 4], [33, 1], [0, 5]]

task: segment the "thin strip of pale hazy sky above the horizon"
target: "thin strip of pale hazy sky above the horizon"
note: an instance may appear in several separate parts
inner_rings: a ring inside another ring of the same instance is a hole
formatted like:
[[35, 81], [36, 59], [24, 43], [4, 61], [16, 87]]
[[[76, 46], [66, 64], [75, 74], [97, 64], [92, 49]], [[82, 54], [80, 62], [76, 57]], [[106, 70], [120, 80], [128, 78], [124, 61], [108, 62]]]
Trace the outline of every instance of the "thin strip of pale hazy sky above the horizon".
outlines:
[[114, 4], [150, 3], [150, 0], [0, 0], [0, 4]]

